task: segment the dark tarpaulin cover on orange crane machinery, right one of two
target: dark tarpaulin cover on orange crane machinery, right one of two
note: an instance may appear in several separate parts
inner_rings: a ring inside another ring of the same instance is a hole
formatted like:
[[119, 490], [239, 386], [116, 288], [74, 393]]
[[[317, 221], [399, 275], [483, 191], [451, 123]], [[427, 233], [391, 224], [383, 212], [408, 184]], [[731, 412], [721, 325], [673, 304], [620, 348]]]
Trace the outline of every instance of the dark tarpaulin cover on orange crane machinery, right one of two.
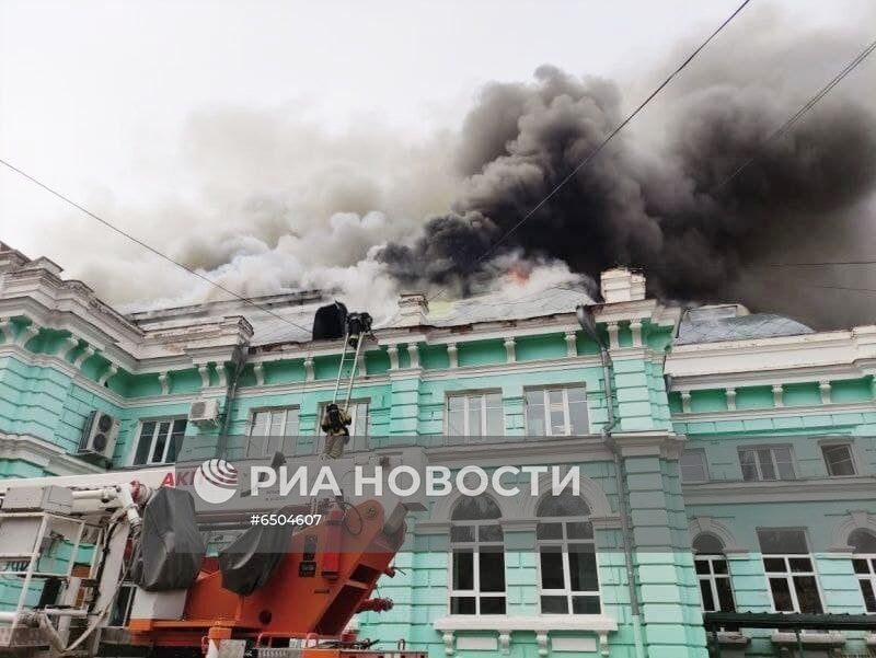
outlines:
[[289, 552], [292, 526], [253, 526], [219, 552], [222, 587], [251, 594], [263, 587]]

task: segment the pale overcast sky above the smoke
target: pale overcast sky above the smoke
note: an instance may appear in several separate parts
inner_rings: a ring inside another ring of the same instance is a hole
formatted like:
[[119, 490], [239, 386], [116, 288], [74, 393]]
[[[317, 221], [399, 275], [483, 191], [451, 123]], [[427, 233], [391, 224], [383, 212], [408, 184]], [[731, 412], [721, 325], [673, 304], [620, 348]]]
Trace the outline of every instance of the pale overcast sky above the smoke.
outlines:
[[[199, 113], [281, 112], [328, 135], [378, 124], [417, 143], [456, 130], [485, 82], [545, 62], [618, 80], [630, 105], [738, 3], [0, 0], [0, 157], [95, 209], [138, 208], [199, 193], [181, 153]], [[719, 38], [745, 48], [758, 4]], [[857, 25], [872, 7], [769, 4], [794, 28]], [[107, 219], [150, 235], [134, 216]], [[60, 239], [70, 230], [88, 240]], [[0, 240], [70, 276], [118, 245], [4, 169]]]

